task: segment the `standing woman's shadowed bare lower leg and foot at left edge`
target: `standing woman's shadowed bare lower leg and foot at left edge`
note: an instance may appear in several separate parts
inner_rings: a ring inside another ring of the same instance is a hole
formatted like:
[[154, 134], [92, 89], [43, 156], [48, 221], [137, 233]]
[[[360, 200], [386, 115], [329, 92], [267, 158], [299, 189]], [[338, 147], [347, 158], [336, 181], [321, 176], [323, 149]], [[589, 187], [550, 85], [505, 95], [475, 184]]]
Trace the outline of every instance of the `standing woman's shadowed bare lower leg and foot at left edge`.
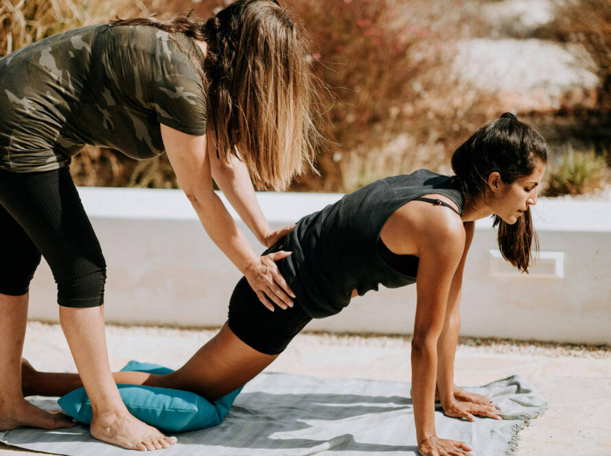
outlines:
[[58, 429], [75, 426], [61, 413], [47, 413], [21, 392], [21, 352], [25, 339], [28, 295], [0, 294], [0, 431], [32, 426]]

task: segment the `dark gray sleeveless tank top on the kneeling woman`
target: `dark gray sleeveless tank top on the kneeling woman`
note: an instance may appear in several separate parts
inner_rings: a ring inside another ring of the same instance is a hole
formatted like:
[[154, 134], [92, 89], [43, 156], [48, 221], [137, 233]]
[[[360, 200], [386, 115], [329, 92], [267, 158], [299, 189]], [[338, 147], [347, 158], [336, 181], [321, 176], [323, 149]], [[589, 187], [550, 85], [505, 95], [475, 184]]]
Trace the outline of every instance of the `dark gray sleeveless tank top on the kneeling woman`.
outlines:
[[447, 196], [462, 214], [464, 196], [448, 176], [417, 170], [373, 182], [299, 220], [274, 250], [293, 252], [278, 267], [310, 317], [340, 312], [354, 289], [364, 295], [378, 284], [416, 281], [417, 258], [411, 273], [398, 270], [380, 250], [380, 231], [393, 212], [426, 194]]

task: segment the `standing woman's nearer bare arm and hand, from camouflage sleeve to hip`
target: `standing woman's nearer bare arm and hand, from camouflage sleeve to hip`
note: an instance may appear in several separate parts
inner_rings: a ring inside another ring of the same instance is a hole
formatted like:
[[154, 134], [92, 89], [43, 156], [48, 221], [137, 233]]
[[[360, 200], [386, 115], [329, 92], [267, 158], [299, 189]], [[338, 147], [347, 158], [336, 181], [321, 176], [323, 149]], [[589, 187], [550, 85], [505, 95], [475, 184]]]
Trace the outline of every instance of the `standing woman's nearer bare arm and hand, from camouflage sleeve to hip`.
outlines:
[[276, 260], [290, 253], [276, 252], [260, 257], [251, 249], [222, 201], [214, 193], [206, 135], [187, 135], [161, 124], [161, 137], [178, 182], [208, 236], [246, 276], [257, 297], [268, 309], [274, 309], [269, 299], [281, 308], [292, 306], [292, 301], [281, 288], [286, 282], [275, 264]]

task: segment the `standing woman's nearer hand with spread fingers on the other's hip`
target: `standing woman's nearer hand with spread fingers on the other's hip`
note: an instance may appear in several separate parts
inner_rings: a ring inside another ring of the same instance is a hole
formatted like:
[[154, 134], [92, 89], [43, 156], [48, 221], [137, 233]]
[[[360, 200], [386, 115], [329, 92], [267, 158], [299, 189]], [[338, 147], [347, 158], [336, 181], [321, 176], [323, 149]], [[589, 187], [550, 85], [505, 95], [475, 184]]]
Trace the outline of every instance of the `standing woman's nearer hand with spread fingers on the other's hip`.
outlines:
[[284, 310], [287, 307], [292, 307], [292, 299], [290, 297], [295, 297], [295, 294], [286, 284], [275, 263], [282, 258], [288, 257], [291, 253], [281, 250], [257, 257], [244, 272], [246, 280], [248, 280], [251, 288], [257, 293], [259, 300], [272, 312], [274, 311], [274, 306], [270, 299], [279, 308]]

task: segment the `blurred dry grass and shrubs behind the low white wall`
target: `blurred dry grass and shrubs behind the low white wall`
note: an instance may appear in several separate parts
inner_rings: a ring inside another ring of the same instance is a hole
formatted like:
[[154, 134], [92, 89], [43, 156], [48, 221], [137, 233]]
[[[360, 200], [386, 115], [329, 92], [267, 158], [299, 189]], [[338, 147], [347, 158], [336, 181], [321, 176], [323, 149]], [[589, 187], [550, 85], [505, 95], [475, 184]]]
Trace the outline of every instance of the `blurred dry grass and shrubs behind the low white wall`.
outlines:
[[[207, 17], [223, 0], [0, 0], [0, 56], [84, 25], [161, 12]], [[284, 0], [329, 93], [321, 176], [296, 191], [349, 192], [427, 167], [450, 173], [462, 141], [505, 111], [551, 145], [550, 195], [611, 194], [608, 0]], [[78, 185], [177, 187], [165, 155], [87, 147]], [[597, 190], [598, 189], [598, 190]]]

